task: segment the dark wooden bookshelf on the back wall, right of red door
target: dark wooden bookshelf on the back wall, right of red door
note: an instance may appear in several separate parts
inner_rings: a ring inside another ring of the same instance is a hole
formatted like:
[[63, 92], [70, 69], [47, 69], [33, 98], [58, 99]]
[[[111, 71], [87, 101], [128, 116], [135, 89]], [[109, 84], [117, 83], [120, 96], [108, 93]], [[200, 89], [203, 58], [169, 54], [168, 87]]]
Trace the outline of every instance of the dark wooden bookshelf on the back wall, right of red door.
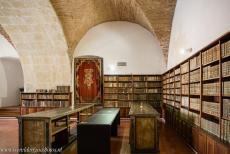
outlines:
[[127, 118], [132, 102], [146, 102], [161, 110], [161, 75], [104, 75], [104, 107], [119, 107]]

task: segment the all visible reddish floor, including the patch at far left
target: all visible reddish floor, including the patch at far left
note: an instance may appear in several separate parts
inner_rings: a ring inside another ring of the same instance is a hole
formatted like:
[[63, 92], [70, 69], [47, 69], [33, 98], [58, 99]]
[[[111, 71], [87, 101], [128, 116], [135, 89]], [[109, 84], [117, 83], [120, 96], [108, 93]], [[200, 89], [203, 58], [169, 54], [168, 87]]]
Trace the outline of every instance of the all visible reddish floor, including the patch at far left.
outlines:
[[[129, 120], [121, 120], [118, 137], [111, 139], [112, 154], [130, 154]], [[14, 119], [0, 119], [0, 149], [18, 148], [18, 121]], [[17, 152], [0, 152], [0, 154], [16, 154]], [[63, 151], [63, 154], [76, 154], [76, 142]], [[170, 128], [163, 124], [160, 131], [161, 154], [193, 154], [185, 142]]]

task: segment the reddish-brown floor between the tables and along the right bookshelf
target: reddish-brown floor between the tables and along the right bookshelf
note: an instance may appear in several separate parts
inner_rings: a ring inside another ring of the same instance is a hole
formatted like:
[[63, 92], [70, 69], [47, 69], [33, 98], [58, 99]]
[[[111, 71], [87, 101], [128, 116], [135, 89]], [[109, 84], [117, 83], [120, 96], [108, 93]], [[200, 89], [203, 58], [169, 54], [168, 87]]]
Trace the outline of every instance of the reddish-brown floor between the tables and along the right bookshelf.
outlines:
[[[129, 147], [130, 120], [122, 119], [118, 129], [118, 137], [111, 138], [111, 154], [130, 154]], [[75, 153], [76, 142], [73, 142], [63, 151], [63, 154]], [[194, 152], [185, 144], [176, 132], [161, 124], [160, 154], [193, 154]]]

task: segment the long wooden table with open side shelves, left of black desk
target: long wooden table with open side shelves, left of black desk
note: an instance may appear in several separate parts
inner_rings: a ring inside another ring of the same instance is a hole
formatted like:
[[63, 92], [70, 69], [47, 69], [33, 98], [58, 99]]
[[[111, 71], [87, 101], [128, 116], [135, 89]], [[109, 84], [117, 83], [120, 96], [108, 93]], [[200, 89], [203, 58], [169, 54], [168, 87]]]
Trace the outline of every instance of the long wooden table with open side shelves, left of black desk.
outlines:
[[94, 104], [77, 104], [75, 107], [19, 116], [19, 148], [42, 150], [42, 153], [53, 153], [47, 149], [64, 148], [76, 139], [76, 125], [80, 112], [89, 109], [93, 113]]

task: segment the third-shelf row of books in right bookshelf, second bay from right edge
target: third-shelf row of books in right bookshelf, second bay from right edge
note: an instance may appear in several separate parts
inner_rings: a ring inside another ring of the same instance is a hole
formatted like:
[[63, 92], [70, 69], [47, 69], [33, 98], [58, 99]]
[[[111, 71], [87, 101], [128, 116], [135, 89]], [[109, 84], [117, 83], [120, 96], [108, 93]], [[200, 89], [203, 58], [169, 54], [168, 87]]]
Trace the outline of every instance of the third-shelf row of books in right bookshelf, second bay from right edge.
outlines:
[[203, 84], [203, 94], [208, 96], [218, 96], [220, 84], [218, 82]]

